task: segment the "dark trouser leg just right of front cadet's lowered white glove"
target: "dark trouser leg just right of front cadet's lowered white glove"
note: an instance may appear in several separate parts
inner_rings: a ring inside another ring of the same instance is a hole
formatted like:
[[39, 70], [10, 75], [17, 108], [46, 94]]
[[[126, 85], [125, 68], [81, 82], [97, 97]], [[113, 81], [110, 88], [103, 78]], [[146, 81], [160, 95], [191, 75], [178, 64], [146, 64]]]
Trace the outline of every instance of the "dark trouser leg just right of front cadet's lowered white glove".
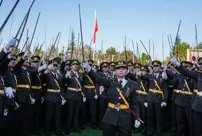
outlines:
[[140, 107], [140, 118], [144, 121], [144, 124], [142, 124], [141, 127], [141, 132], [145, 133], [146, 132], [146, 127], [147, 127], [147, 110], [146, 107], [144, 106], [144, 102], [138, 101], [138, 105]]

